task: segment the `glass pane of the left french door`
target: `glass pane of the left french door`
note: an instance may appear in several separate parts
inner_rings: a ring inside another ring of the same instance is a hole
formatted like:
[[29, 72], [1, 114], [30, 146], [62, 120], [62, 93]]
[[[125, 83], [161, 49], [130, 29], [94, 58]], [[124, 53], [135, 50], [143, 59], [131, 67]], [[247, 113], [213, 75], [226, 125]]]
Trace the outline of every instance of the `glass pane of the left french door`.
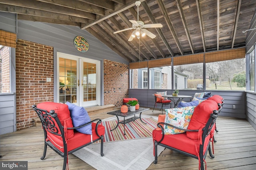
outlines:
[[59, 102], [76, 103], [76, 60], [59, 58]]

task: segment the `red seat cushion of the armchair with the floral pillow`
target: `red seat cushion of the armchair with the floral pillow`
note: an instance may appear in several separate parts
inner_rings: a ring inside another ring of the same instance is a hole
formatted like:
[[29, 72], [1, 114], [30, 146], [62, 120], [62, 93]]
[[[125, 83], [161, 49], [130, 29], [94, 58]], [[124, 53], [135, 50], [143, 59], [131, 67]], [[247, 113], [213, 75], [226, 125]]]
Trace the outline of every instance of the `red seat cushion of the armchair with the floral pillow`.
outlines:
[[[180, 133], [175, 135], [164, 135], [164, 139], [161, 141], [161, 143], [164, 145], [173, 147], [175, 149], [182, 150], [184, 152], [198, 156], [200, 142], [188, 138], [186, 133]], [[152, 137], [153, 137], [153, 140], [160, 141], [160, 139], [162, 138], [162, 131], [157, 131], [155, 129], [152, 132]], [[206, 137], [205, 139], [204, 153], [207, 149], [207, 144], [209, 143], [209, 140], [210, 140], [210, 135], [208, 135], [208, 137]]]

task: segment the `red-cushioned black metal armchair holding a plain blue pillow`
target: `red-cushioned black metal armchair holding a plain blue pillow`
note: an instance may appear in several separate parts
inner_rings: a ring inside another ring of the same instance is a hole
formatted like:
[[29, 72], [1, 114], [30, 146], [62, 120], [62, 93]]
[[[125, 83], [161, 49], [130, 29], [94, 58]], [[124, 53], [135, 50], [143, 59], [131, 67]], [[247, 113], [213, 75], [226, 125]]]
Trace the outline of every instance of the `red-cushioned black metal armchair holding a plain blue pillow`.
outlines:
[[[44, 129], [44, 153], [41, 157], [43, 160], [46, 156], [47, 146], [64, 158], [63, 170], [68, 167], [68, 154], [71, 154], [87, 145], [101, 140], [100, 155], [103, 154], [103, 140], [105, 128], [101, 125], [100, 119], [95, 119], [73, 127], [77, 122], [75, 118], [70, 117], [69, 106], [54, 102], [43, 102], [33, 105], [32, 108], [38, 114], [42, 127]], [[80, 109], [81, 108], [81, 109]], [[72, 107], [72, 111], [83, 111], [83, 107]], [[82, 113], [84, 115], [84, 113]], [[80, 114], [79, 119], [83, 118]], [[97, 121], [97, 122], [96, 122]], [[96, 123], [94, 123], [96, 122]]]

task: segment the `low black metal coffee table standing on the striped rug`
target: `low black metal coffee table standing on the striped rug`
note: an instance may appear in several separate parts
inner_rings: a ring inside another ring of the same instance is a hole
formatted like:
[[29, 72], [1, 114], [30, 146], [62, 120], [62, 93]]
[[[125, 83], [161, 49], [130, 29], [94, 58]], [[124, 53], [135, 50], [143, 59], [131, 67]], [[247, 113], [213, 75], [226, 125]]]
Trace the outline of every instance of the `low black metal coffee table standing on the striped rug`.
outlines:
[[[116, 125], [116, 127], [114, 129], [110, 130], [110, 131], [115, 130], [118, 127], [119, 123], [122, 123], [122, 124], [124, 124], [124, 135], [125, 135], [125, 123], [129, 123], [131, 121], [135, 121], [136, 119], [139, 119], [139, 118], [140, 118], [140, 121], [142, 121], [141, 113], [143, 111], [146, 111], [146, 110], [149, 110], [149, 108], [140, 107], [139, 109], [137, 109], [135, 111], [130, 111], [130, 109], [128, 109], [127, 113], [122, 113], [121, 110], [116, 110], [116, 111], [108, 112], [107, 114], [115, 115], [116, 118], [117, 118], [117, 125]], [[140, 117], [136, 116], [136, 114], [138, 114], [138, 113], [140, 113]], [[134, 117], [131, 117], [131, 118], [125, 120], [126, 117], [132, 116], [132, 115], [134, 115]], [[118, 116], [124, 117], [124, 120], [119, 122]], [[142, 123], [145, 123], [145, 122], [142, 121]], [[145, 123], [145, 124], [147, 124], [147, 123]]]

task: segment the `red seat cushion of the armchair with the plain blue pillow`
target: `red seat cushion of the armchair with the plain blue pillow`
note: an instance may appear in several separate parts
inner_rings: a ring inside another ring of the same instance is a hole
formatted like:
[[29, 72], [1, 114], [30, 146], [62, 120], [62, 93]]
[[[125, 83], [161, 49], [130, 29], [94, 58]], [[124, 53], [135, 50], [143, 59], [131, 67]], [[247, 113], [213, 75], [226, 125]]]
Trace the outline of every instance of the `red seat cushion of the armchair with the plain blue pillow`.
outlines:
[[[99, 137], [96, 135], [96, 123], [92, 123], [92, 140], [98, 139]], [[105, 127], [102, 125], [98, 125], [98, 134], [105, 134]], [[63, 141], [56, 137], [56, 135], [48, 135], [46, 140], [49, 140], [55, 147], [64, 152]], [[68, 152], [70, 150], [81, 147], [87, 143], [91, 142], [91, 135], [80, 133], [78, 131], [74, 131], [74, 137], [68, 139], [67, 141]]]

